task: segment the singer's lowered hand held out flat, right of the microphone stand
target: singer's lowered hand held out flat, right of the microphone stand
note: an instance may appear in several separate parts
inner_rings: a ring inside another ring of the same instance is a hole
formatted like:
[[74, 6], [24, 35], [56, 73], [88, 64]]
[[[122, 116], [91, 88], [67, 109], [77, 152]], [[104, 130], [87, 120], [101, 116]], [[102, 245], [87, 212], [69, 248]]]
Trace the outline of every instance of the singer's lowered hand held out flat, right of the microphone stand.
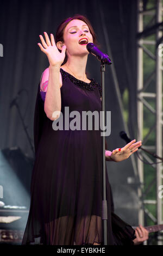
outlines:
[[105, 151], [105, 158], [107, 161], [107, 156], [108, 156], [108, 161], [114, 161], [114, 162], [121, 162], [123, 160], [128, 159], [130, 155], [135, 153], [138, 148], [142, 145], [141, 141], [135, 142], [136, 140], [134, 139], [133, 141], [129, 142], [127, 145], [125, 145], [121, 149], [114, 149], [112, 150], [112, 153], [110, 154], [109, 150]]

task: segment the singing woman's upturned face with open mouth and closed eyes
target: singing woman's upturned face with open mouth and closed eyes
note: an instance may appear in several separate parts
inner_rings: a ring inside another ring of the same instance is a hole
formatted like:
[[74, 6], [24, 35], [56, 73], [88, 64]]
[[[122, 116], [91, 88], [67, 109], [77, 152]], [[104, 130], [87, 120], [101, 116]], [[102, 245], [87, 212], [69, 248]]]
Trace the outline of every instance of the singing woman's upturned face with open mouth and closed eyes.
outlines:
[[[84, 38], [87, 41], [80, 41]], [[64, 44], [66, 45], [67, 56], [84, 56], [89, 54], [86, 49], [88, 42], [93, 42], [93, 38], [87, 24], [82, 20], [70, 21], [64, 30]]]

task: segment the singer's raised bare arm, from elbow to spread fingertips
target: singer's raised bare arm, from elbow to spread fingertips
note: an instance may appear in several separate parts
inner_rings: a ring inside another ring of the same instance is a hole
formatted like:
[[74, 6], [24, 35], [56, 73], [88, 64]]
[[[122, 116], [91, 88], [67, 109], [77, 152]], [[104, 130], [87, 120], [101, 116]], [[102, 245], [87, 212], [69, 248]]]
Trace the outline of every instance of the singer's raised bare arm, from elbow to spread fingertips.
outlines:
[[[39, 43], [39, 47], [42, 52], [46, 54], [49, 60], [49, 68], [43, 72], [41, 81], [41, 90], [45, 92], [46, 97], [44, 110], [47, 117], [51, 120], [55, 120], [59, 117], [61, 111], [61, 94], [60, 87], [62, 86], [60, 66], [65, 58], [66, 46], [62, 47], [61, 53], [55, 45], [54, 36], [51, 34], [51, 40], [45, 32], [45, 39], [40, 35], [42, 45]], [[48, 81], [47, 87], [44, 87], [45, 82]], [[55, 115], [58, 112], [58, 115]]]

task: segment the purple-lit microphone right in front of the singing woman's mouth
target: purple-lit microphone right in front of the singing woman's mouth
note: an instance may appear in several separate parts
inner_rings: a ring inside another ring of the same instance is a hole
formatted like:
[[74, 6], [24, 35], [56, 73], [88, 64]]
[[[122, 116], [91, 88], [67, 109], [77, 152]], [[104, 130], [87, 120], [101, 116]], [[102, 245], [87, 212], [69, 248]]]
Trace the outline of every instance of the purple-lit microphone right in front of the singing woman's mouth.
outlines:
[[96, 58], [100, 61], [100, 62], [103, 62], [104, 64], [112, 64], [109, 56], [103, 52], [101, 52], [98, 47], [93, 44], [92, 42], [89, 42], [87, 45], [86, 45], [86, 48], [87, 50], [93, 54], [94, 56], [96, 56]]

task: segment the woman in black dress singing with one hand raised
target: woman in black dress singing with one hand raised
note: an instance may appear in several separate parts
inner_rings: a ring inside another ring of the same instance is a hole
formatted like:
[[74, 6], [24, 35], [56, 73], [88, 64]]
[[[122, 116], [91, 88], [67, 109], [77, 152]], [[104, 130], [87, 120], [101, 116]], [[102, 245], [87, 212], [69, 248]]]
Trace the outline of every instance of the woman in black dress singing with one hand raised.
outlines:
[[[83, 112], [102, 111], [101, 86], [86, 76], [86, 44], [96, 44], [96, 35], [82, 15], [64, 20], [55, 40], [53, 34], [44, 35], [38, 45], [49, 67], [41, 77], [35, 105], [35, 163], [22, 244], [103, 245], [101, 130], [82, 129]], [[73, 111], [80, 114], [76, 124]], [[54, 129], [58, 120], [63, 125]], [[106, 150], [105, 159], [125, 160], [140, 146], [141, 141], [134, 140], [121, 150]], [[106, 175], [108, 245], [132, 244], [135, 231], [111, 212], [110, 198]]]

